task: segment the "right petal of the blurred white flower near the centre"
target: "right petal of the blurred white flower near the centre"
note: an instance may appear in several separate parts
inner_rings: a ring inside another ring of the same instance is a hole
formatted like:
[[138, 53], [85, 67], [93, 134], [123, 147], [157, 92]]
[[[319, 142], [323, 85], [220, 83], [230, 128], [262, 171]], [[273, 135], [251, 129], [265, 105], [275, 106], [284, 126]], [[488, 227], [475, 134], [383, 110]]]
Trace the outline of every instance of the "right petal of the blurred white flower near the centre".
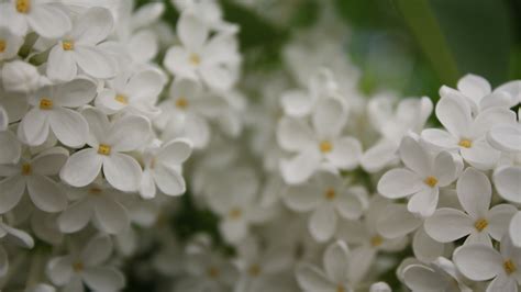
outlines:
[[333, 149], [325, 154], [328, 160], [340, 169], [354, 169], [362, 156], [362, 144], [354, 137], [342, 137], [333, 142]]

